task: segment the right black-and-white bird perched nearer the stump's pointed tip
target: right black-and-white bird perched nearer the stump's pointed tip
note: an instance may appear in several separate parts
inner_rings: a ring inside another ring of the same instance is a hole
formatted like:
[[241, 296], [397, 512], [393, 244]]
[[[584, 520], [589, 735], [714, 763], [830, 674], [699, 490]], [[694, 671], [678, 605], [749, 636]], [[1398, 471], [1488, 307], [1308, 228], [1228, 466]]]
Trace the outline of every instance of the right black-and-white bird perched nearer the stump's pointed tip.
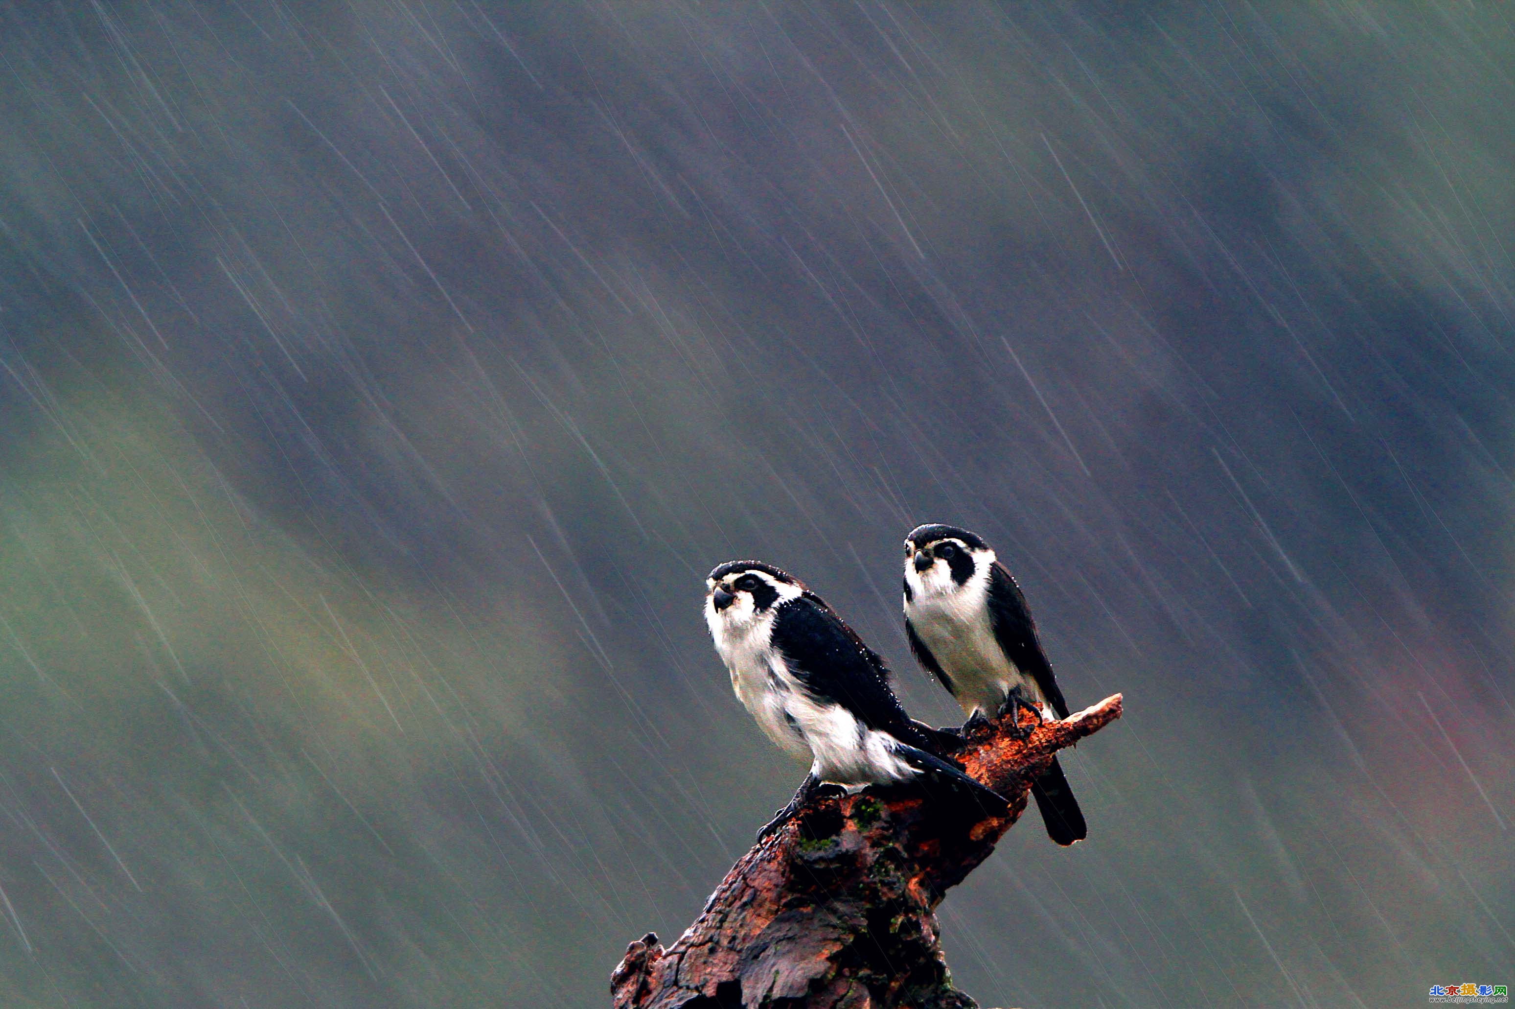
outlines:
[[[1021, 586], [989, 544], [956, 526], [917, 526], [904, 539], [904, 636], [917, 662], [968, 714], [970, 729], [1004, 711], [1068, 717]], [[1014, 732], [1024, 738], [1017, 726]], [[1047, 833], [1062, 845], [1088, 826], [1056, 758], [1032, 783]]]

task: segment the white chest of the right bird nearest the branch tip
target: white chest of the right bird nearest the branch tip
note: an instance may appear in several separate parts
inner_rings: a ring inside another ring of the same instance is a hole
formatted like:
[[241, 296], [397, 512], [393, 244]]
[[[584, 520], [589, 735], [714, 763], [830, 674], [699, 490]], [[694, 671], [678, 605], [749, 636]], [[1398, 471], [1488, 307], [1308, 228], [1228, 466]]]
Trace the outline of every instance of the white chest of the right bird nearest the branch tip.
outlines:
[[953, 695], [965, 712], [992, 717], [1015, 685], [1042, 700], [1032, 679], [1004, 658], [983, 586], [970, 583], [951, 595], [917, 598], [906, 603], [904, 615], [951, 680]]

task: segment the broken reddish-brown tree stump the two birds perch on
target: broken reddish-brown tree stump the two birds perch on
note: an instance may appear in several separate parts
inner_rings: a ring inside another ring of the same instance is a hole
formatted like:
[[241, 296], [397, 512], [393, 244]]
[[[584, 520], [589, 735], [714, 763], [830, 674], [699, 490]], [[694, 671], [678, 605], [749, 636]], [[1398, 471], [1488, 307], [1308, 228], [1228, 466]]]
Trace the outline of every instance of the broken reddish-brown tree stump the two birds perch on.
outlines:
[[1057, 750], [1120, 718], [1121, 695], [1026, 739], [1015, 715], [954, 754], [1009, 811], [920, 782], [807, 803], [732, 867], [677, 942], [630, 944], [611, 976], [615, 1009], [974, 1006], [951, 986], [936, 904], [994, 851]]

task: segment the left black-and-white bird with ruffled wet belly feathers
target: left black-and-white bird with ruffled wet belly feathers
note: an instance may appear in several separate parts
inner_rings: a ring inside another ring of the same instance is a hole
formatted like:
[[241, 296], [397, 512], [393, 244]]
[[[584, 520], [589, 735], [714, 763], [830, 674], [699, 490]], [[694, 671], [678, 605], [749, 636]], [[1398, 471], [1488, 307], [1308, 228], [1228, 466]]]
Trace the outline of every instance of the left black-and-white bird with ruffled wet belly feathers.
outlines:
[[883, 659], [798, 579], [770, 564], [732, 561], [711, 571], [706, 586], [704, 623], [738, 700], [782, 750], [811, 761], [800, 791], [759, 838], [821, 782], [883, 785], [926, 774], [1004, 812], [1003, 797], [933, 753], [956, 738], [904, 714]]

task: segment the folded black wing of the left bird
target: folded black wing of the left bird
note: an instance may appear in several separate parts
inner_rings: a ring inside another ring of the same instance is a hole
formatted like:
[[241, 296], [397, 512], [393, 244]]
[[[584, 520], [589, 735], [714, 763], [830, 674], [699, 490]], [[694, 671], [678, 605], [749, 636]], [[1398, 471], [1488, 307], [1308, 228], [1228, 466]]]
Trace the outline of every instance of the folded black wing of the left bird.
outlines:
[[915, 741], [911, 718], [889, 689], [889, 667], [818, 597], [806, 592], [779, 608], [773, 644], [814, 697], [841, 703], [870, 729]]

